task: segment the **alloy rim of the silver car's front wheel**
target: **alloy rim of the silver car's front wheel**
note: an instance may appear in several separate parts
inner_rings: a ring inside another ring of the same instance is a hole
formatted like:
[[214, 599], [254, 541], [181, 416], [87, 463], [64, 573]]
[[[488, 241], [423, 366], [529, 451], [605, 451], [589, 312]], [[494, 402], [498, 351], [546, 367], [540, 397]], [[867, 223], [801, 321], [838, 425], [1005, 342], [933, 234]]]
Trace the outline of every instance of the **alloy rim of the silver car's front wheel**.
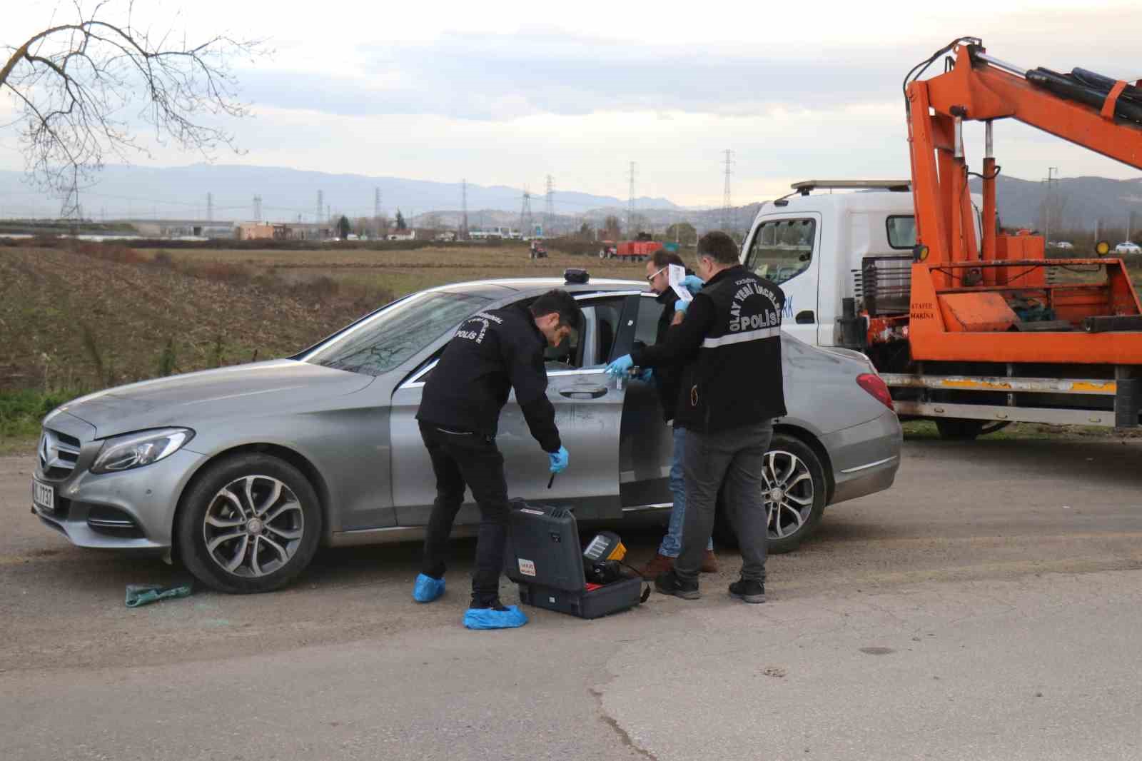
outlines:
[[297, 553], [305, 535], [301, 502], [270, 475], [243, 475], [224, 486], [202, 519], [215, 564], [246, 578], [268, 576]]

